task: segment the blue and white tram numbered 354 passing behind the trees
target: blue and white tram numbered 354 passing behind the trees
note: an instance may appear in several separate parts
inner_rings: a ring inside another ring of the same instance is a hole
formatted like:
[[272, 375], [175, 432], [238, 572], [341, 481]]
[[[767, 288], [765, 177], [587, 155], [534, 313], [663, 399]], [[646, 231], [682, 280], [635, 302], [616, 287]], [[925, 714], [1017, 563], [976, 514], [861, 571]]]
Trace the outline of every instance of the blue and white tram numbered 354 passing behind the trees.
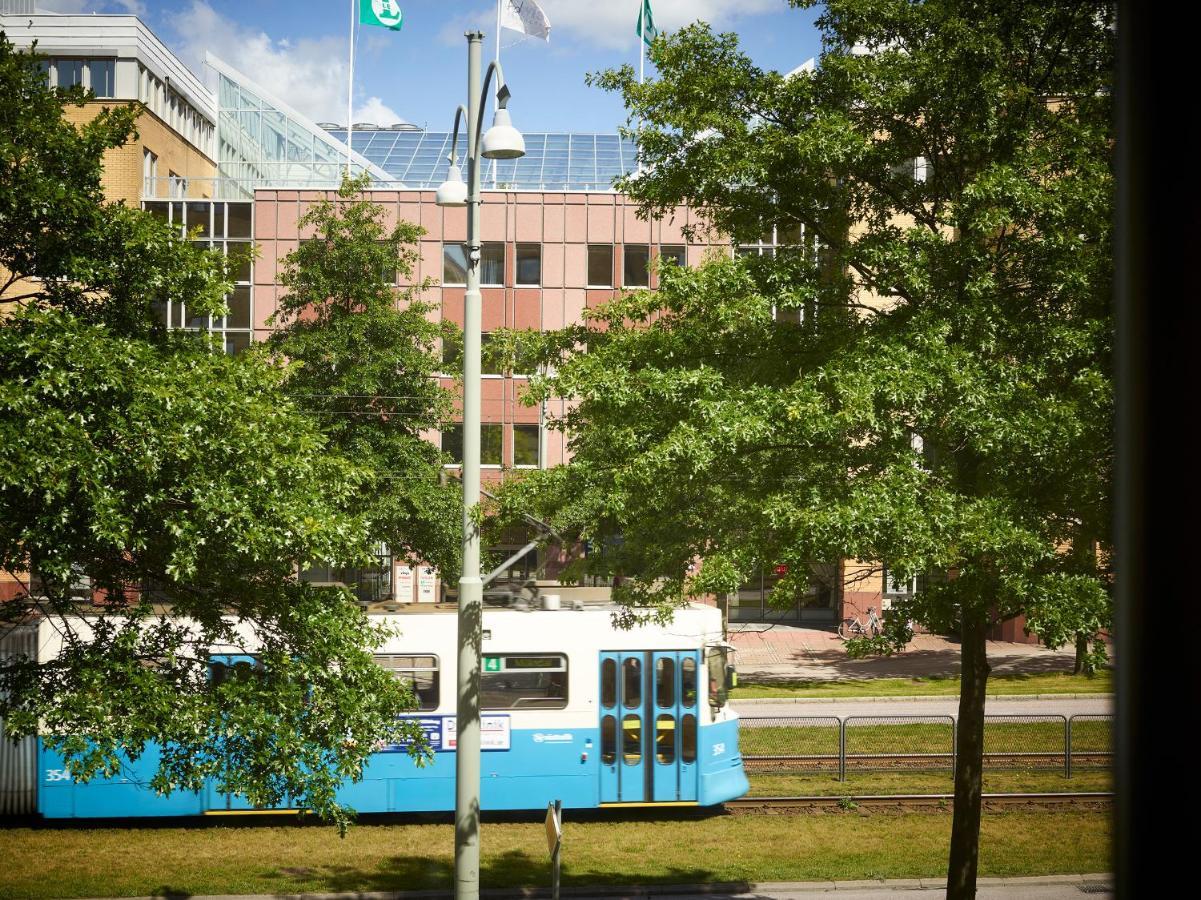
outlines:
[[[485, 810], [710, 805], [748, 789], [737, 715], [725, 702], [733, 673], [721, 614], [692, 604], [663, 626], [619, 630], [611, 607], [485, 609], [482, 806]], [[340, 800], [359, 812], [454, 809], [455, 610], [381, 616], [398, 634], [380, 664], [413, 681], [416, 711], [435, 751], [418, 768], [404, 747], [372, 755]], [[214, 666], [250, 657], [215, 654]], [[209, 787], [161, 797], [144, 785], [148, 747], [125, 777], [76, 783], [38, 741], [37, 810], [46, 818], [196, 816], [250, 810]]]

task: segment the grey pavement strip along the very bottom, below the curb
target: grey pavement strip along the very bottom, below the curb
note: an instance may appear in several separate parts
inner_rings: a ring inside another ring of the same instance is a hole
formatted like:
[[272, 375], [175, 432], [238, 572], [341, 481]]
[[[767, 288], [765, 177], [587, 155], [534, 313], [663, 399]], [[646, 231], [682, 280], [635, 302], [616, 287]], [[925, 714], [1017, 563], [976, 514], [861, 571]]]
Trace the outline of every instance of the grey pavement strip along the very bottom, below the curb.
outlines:
[[[1083, 900], [1085, 896], [1112, 896], [1112, 876], [1109, 875], [1046, 875], [1029, 878], [979, 878], [979, 900]], [[882, 900], [890, 896], [927, 894], [940, 896], [946, 882], [939, 878], [903, 878], [894, 881], [815, 881], [764, 882], [759, 884], [629, 884], [604, 888], [563, 888], [561, 894], [573, 900], [803, 900], [833, 895], [839, 900]], [[546, 888], [483, 889], [486, 900], [516, 900], [546, 898]], [[442, 900], [449, 890], [364, 892], [353, 894], [211, 894], [193, 895], [190, 900]], [[156, 900], [126, 898], [125, 900]]]

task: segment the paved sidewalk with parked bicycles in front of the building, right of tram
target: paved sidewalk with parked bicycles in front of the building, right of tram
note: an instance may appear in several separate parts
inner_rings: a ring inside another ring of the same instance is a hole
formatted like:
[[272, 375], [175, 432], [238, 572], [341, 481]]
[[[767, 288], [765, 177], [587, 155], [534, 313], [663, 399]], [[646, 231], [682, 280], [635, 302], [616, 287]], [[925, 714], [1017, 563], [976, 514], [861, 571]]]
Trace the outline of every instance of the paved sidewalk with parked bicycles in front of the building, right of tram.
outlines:
[[[849, 658], [842, 639], [826, 628], [736, 622], [730, 624], [728, 639], [737, 648], [739, 675], [759, 683], [914, 678], [960, 672], [958, 642], [938, 634], [914, 634], [904, 652], [868, 660]], [[1038, 644], [990, 640], [988, 662], [993, 674], [1068, 673], [1075, 651], [1070, 646], [1050, 650]]]

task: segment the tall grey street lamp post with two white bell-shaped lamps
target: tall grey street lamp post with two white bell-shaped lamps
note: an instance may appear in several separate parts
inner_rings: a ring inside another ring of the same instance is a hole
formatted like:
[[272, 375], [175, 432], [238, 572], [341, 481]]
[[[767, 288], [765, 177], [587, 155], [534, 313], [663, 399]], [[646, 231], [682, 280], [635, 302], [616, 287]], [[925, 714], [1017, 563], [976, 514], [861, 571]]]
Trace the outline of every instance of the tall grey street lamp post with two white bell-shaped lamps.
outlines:
[[[479, 294], [479, 165], [525, 155], [525, 141], [509, 124], [509, 89], [500, 62], [492, 62], [480, 84], [480, 31], [467, 32], [467, 108], [455, 112], [450, 168], [438, 187], [440, 207], [467, 207], [467, 294], [462, 339], [462, 574], [459, 578], [459, 668], [455, 739], [454, 895], [479, 898], [479, 668], [484, 583], [479, 572], [479, 418], [480, 418], [480, 294]], [[496, 74], [497, 109], [492, 127], [480, 141], [488, 85]], [[459, 123], [467, 119], [467, 184], [458, 166]]]

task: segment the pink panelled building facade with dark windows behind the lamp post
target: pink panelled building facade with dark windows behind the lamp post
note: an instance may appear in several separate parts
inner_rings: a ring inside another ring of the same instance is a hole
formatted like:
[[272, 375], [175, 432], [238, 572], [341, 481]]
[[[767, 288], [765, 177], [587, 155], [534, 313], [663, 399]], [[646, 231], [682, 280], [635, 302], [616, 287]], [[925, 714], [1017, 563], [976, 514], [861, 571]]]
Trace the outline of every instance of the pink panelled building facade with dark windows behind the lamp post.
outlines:
[[[279, 266], [297, 244], [310, 237], [298, 221], [321, 191], [255, 192], [255, 243], [261, 256], [253, 270], [255, 336], [265, 324], [283, 290]], [[414, 222], [425, 230], [413, 282], [434, 279], [424, 299], [441, 316], [462, 326], [466, 208], [442, 208], [434, 191], [371, 191], [388, 221]], [[687, 209], [659, 221], [643, 221], [634, 204], [613, 191], [485, 191], [480, 207], [483, 329], [551, 330], [582, 321], [584, 310], [623, 288], [657, 287], [649, 262], [661, 255], [695, 266], [706, 252], [729, 254], [729, 244], [688, 243], [681, 228], [693, 220]], [[452, 379], [446, 380], [450, 387]], [[530, 469], [566, 461], [563, 436], [543, 428], [545, 415], [519, 401], [526, 385], [521, 374], [485, 374], [483, 386], [483, 465], [485, 479], [503, 469]], [[435, 435], [435, 440], [438, 437]], [[444, 448], [453, 452], [452, 436]]]

